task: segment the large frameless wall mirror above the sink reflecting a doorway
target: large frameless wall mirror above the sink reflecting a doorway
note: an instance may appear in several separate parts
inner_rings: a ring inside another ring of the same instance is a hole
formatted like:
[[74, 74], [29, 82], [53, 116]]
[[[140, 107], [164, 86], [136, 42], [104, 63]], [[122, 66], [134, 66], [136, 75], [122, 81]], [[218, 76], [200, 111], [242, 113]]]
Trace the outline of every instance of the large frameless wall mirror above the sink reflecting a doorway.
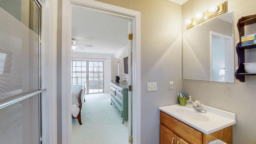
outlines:
[[234, 12], [183, 32], [183, 79], [234, 82]]

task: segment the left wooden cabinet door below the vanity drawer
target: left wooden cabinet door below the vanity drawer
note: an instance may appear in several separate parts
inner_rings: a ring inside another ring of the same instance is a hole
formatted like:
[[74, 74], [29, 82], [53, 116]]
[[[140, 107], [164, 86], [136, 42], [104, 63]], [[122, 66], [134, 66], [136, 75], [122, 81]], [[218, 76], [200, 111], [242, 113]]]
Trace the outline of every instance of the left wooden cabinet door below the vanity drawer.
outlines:
[[176, 144], [176, 134], [160, 124], [160, 144]]

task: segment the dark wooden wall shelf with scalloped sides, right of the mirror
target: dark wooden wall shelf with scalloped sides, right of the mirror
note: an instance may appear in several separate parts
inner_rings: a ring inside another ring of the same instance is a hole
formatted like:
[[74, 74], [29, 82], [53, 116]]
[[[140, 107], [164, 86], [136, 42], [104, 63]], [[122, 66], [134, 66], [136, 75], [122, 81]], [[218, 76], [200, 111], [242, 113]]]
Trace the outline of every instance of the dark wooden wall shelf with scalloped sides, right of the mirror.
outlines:
[[254, 45], [248, 45], [248, 46], [241, 46], [241, 36], [244, 36], [244, 26], [247, 26], [249, 24], [256, 23], [256, 14], [250, 15], [250, 16], [244, 16], [237, 20], [237, 28], [239, 33], [239, 39], [238, 43], [236, 44], [236, 53], [238, 55], [238, 65], [235, 70], [235, 77], [240, 82], [245, 82], [245, 76], [246, 75], [256, 75], [256, 74], [249, 74], [246, 73], [244, 70], [244, 50], [250, 49], [250, 48], [256, 48], [256, 44]]

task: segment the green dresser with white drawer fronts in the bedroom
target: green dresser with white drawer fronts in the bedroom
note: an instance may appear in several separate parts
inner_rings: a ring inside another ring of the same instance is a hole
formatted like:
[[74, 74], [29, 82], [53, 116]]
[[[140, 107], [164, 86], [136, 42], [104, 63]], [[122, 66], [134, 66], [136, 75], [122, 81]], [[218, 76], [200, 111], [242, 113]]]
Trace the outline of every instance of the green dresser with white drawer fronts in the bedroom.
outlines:
[[110, 83], [111, 104], [124, 120], [128, 120], [128, 83]]

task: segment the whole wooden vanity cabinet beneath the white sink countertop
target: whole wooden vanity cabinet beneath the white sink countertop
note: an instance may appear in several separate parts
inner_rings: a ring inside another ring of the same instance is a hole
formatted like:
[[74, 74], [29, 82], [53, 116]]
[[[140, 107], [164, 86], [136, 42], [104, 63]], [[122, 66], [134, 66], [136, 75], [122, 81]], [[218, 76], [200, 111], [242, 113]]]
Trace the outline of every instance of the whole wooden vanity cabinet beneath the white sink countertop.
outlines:
[[204, 134], [160, 111], [160, 144], [208, 144], [217, 139], [232, 144], [232, 126]]

